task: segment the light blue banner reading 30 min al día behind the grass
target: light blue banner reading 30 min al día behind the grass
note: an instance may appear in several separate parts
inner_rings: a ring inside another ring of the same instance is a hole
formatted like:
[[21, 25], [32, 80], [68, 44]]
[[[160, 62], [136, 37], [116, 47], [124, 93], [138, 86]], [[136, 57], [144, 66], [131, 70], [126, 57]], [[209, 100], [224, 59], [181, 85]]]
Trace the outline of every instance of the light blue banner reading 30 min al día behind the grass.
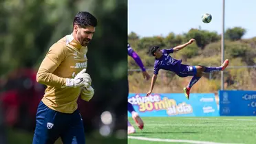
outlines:
[[[217, 117], [219, 111], [213, 93], [191, 93], [189, 100], [184, 93], [146, 94], [130, 93], [128, 101], [140, 117]], [[128, 112], [128, 117], [131, 114]]]

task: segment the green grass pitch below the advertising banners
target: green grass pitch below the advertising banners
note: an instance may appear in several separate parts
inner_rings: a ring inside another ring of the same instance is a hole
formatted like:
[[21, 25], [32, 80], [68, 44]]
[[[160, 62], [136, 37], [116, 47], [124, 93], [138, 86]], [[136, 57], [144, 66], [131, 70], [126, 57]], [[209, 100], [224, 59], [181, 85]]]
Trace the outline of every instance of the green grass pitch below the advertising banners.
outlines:
[[[144, 129], [139, 130], [136, 127], [136, 134], [129, 136], [215, 143], [256, 143], [256, 117], [142, 117], [142, 119], [145, 122]], [[134, 121], [131, 118], [129, 120], [135, 126]], [[167, 142], [128, 139], [128, 144], [140, 143]]]

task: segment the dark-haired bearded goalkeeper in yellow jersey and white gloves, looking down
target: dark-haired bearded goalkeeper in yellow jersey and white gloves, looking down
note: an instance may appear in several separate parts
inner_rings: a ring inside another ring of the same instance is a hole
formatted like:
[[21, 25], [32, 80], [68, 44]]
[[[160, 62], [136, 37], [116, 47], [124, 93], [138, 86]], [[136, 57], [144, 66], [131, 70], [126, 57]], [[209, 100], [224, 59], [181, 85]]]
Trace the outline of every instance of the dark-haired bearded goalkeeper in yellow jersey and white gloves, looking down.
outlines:
[[36, 81], [45, 84], [45, 95], [36, 113], [33, 144], [85, 144], [83, 119], [77, 99], [89, 101], [94, 95], [91, 77], [86, 73], [87, 45], [92, 40], [97, 19], [89, 12], [78, 12], [73, 32], [50, 47]]

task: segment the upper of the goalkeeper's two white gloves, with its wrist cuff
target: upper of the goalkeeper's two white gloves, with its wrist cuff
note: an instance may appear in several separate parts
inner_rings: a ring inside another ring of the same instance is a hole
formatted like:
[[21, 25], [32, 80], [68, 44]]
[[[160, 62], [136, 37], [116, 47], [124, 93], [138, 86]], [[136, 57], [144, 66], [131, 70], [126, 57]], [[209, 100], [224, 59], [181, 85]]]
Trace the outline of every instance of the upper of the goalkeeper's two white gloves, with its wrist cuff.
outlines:
[[80, 71], [74, 79], [66, 78], [66, 87], [89, 87], [91, 86], [92, 79], [88, 73], [85, 73], [86, 69]]

